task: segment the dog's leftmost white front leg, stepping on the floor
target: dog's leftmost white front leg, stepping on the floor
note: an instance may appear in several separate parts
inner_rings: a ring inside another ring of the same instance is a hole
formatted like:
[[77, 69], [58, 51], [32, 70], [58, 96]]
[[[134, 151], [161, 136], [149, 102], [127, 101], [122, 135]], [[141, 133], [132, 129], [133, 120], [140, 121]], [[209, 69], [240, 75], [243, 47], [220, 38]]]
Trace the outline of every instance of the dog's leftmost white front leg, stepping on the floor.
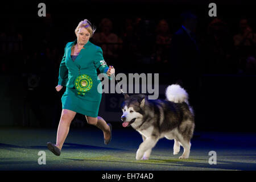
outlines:
[[146, 138], [144, 142], [139, 145], [139, 149], [136, 153], [136, 160], [142, 159], [144, 152], [151, 150], [155, 146], [156, 142], [158, 142], [158, 138], [156, 137]]

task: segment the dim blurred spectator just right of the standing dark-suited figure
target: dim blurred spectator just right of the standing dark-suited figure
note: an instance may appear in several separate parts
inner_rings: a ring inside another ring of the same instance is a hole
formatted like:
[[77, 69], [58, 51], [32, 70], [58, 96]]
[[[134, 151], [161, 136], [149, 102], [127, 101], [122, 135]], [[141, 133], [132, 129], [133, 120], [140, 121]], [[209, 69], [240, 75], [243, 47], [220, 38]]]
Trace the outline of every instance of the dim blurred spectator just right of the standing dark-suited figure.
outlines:
[[223, 20], [214, 18], [207, 27], [204, 45], [204, 64], [208, 73], [236, 72], [232, 59], [233, 40]]

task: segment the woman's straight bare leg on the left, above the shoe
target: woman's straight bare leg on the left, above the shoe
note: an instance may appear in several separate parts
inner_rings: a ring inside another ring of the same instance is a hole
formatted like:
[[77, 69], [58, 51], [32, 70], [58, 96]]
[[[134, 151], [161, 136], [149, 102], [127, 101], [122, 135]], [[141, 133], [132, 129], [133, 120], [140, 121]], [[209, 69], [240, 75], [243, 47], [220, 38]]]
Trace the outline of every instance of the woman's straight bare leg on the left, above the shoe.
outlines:
[[56, 147], [60, 150], [64, 144], [65, 139], [67, 138], [69, 126], [75, 117], [76, 112], [68, 109], [63, 109], [61, 112], [60, 123], [57, 130], [57, 139], [56, 139]]

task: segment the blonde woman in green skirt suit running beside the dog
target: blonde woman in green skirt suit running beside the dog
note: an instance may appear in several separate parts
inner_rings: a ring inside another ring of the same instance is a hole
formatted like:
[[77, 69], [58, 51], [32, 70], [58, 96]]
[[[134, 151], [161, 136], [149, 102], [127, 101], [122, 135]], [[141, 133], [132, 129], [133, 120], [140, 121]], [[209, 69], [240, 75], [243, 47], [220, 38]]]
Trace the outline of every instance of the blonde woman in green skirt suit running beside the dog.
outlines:
[[56, 86], [59, 92], [63, 86], [67, 89], [61, 98], [63, 110], [57, 129], [56, 144], [47, 143], [48, 149], [55, 155], [60, 155], [64, 140], [68, 135], [69, 126], [76, 113], [84, 114], [90, 125], [95, 125], [104, 133], [104, 143], [112, 139], [112, 125], [98, 116], [101, 101], [101, 82], [97, 76], [97, 69], [112, 80], [115, 70], [108, 67], [102, 56], [102, 49], [89, 42], [95, 28], [87, 20], [83, 20], [76, 27], [77, 39], [65, 46], [63, 59], [60, 63], [59, 82]]

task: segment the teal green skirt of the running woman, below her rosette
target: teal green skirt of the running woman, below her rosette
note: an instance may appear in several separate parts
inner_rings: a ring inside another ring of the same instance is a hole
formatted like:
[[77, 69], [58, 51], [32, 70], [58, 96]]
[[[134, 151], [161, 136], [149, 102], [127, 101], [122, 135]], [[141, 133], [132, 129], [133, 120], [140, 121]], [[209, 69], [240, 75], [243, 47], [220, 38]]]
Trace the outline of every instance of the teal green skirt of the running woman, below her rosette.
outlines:
[[61, 97], [61, 102], [62, 109], [72, 110], [76, 113], [96, 118], [100, 108], [101, 94], [97, 90], [92, 89], [85, 93], [84, 96], [80, 96], [75, 88], [66, 88], [65, 93]]

